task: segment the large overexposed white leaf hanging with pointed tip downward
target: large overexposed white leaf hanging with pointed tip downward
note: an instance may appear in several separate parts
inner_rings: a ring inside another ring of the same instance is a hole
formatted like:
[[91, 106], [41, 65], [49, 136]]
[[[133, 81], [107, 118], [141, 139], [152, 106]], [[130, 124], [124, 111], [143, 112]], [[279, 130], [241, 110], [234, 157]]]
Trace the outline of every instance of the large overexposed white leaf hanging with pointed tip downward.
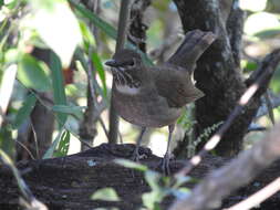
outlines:
[[66, 0], [31, 0], [33, 27], [41, 39], [70, 65], [76, 45], [82, 41], [79, 22]]

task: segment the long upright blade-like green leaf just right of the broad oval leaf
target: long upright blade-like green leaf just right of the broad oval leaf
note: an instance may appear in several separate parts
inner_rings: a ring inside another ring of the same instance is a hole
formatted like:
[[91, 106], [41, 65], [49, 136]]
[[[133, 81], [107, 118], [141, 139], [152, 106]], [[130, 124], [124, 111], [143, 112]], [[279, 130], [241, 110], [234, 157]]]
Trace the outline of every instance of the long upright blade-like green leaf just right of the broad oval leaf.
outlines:
[[[64, 90], [64, 78], [60, 59], [55, 53], [51, 53], [51, 72], [53, 86], [53, 101], [55, 105], [66, 105], [66, 95]], [[59, 126], [63, 127], [68, 119], [65, 113], [58, 113]]]

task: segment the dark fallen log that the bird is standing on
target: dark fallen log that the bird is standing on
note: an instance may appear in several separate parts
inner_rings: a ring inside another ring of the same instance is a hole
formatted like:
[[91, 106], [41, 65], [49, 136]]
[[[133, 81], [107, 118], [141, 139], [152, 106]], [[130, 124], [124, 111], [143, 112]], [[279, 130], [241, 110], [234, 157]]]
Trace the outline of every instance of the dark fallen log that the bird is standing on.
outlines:
[[[37, 199], [44, 202], [51, 210], [92, 210], [101, 207], [134, 210], [141, 207], [142, 193], [151, 189], [142, 172], [133, 172], [132, 169], [118, 166], [113, 161], [115, 158], [132, 158], [133, 151], [134, 145], [103, 144], [62, 158], [22, 161], [17, 167]], [[158, 167], [160, 158], [154, 156], [149, 149], [142, 147], [141, 154], [146, 156], [142, 164], [147, 165], [151, 169]], [[172, 161], [172, 171], [177, 171], [185, 161]], [[191, 171], [190, 176], [201, 179], [227, 161], [227, 158], [207, 156], [205, 161]], [[279, 169], [280, 162], [278, 161], [252, 183], [224, 200], [224, 207], [237, 203], [248, 195], [261, 189], [279, 176]], [[14, 210], [19, 207], [20, 197], [17, 182], [7, 167], [0, 165], [0, 209]], [[194, 187], [194, 183], [189, 185], [188, 187]], [[122, 201], [108, 202], [90, 199], [94, 191], [104, 187], [113, 187]], [[165, 198], [160, 203], [162, 208], [167, 209], [173, 200], [173, 197]], [[277, 203], [280, 203], [279, 193], [261, 204], [260, 209], [277, 210], [279, 208]], [[277, 208], [272, 208], [273, 206]]]

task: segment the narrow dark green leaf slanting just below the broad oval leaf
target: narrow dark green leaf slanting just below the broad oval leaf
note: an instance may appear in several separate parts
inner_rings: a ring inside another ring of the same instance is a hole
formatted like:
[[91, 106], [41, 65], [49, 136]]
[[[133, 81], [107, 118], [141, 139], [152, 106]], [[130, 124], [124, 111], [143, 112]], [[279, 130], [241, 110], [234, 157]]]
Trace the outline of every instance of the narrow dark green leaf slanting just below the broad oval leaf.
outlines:
[[22, 125], [22, 123], [30, 116], [30, 113], [35, 106], [37, 97], [33, 94], [30, 94], [25, 101], [23, 102], [21, 108], [17, 113], [13, 128], [18, 128]]

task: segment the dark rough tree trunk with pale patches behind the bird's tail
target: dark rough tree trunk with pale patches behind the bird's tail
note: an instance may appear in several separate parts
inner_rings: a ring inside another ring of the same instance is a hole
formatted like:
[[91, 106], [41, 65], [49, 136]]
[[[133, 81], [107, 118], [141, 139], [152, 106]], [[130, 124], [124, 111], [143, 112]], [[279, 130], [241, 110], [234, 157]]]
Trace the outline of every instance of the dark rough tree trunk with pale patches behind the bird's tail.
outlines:
[[[224, 4], [218, 0], [174, 2], [185, 31], [200, 29], [218, 36], [195, 71], [196, 85], [206, 95], [196, 102], [196, 136], [199, 136], [204, 129], [227, 118], [247, 87], [239, 69], [243, 14], [234, 8], [231, 0]], [[242, 138], [259, 106], [259, 97], [253, 98], [216, 148], [218, 155], [234, 156], [241, 149]]]

